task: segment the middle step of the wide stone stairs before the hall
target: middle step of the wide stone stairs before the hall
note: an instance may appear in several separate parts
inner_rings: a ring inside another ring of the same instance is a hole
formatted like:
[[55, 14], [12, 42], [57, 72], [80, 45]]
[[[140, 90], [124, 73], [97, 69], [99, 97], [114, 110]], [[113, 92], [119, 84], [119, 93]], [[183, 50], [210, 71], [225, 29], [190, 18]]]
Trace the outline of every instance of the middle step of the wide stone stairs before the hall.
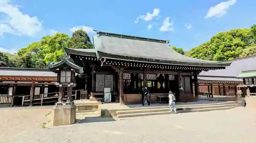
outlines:
[[[191, 109], [200, 109], [200, 108], [216, 108], [216, 107], [226, 107], [226, 106], [236, 106], [237, 104], [220, 104], [220, 105], [207, 105], [207, 106], [185, 106], [176, 108], [182, 108], [184, 110], [191, 110]], [[137, 110], [121, 110], [116, 111], [117, 115], [120, 114], [128, 114], [128, 113], [142, 113], [142, 112], [159, 112], [159, 111], [169, 111], [169, 107], [165, 106], [164, 108], [147, 108], [147, 109], [137, 109]]]

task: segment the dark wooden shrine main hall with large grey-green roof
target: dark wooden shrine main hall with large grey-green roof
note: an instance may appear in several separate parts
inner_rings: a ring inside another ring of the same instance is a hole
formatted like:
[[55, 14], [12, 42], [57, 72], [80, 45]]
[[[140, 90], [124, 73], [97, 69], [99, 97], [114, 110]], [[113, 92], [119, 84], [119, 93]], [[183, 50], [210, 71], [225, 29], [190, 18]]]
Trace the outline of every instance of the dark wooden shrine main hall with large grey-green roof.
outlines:
[[169, 41], [97, 32], [93, 49], [65, 51], [74, 66], [83, 67], [77, 87], [103, 101], [109, 88], [111, 101], [136, 104], [142, 101], [147, 86], [151, 101], [172, 91], [178, 102], [198, 100], [198, 74], [201, 71], [225, 69], [230, 62], [190, 58], [170, 48]]

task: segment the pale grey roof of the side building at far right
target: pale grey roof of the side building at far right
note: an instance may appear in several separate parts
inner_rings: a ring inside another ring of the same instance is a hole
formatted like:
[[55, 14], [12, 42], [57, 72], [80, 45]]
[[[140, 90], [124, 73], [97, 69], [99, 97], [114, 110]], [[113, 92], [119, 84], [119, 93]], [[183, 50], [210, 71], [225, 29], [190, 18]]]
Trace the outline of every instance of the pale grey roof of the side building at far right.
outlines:
[[256, 55], [229, 61], [231, 65], [222, 70], [201, 72], [202, 76], [237, 77], [241, 71], [256, 70]]

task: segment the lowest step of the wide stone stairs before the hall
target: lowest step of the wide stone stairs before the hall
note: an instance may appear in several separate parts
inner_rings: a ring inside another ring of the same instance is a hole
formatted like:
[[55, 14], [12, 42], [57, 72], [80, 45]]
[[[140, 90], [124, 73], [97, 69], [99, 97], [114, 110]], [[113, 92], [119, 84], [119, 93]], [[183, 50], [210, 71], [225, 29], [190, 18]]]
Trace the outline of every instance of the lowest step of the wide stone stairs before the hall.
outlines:
[[[202, 111], [214, 111], [214, 110], [225, 110], [231, 109], [235, 106], [226, 106], [226, 107], [216, 107], [216, 108], [199, 108], [199, 109], [187, 109], [187, 110], [179, 110], [178, 113], [182, 112], [202, 112]], [[151, 116], [151, 115], [165, 115], [173, 112], [168, 111], [155, 111], [155, 112], [140, 112], [140, 113], [127, 113], [127, 114], [119, 114], [117, 118], [131, 118], [131, 117], [141, 117], [141, 116]]]

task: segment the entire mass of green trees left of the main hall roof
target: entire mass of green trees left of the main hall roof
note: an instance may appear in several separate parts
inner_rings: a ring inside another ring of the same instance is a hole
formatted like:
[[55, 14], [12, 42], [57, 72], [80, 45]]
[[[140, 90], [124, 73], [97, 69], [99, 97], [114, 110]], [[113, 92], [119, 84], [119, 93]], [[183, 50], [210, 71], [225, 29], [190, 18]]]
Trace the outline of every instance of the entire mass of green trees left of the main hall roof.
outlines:
[[0, 52], [0, 67], [45, 68], [50, 62], [60, 61], [66, 47], [93, 48], [89, 36], [82, 30], [75, 31], [71, 38], [56, 33], [19, 49], [13, 56]]

